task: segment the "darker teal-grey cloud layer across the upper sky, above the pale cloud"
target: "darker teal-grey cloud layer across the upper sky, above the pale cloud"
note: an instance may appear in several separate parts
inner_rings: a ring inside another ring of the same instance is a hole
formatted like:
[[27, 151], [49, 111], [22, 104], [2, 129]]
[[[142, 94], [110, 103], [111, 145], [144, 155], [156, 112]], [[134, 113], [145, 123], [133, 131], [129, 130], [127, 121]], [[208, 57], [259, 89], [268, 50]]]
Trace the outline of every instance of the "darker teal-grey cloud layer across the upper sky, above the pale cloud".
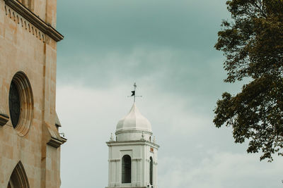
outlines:
[[221, 0], [58, 1], [57, 25], [66, 36], [58, 45], [58, 80], [91, 87], [148, 82], [215, 101], [207, 91], [228, 87], [213, 49], [225, 17]]

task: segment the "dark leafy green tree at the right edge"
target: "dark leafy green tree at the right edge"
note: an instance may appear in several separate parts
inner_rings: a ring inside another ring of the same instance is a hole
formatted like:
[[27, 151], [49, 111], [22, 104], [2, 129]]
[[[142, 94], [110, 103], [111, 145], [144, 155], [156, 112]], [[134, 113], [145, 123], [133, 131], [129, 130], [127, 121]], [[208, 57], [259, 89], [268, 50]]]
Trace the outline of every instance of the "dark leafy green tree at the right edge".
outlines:
[[231, 21], [222, 21], [215, 48], [224, 52], [224, 82], [248, 78], [241, 92], [222, 94], [214, 124], [231, 126], [236, 143], [262, 159], [283, 156], [283, 0], [226, 1]]

